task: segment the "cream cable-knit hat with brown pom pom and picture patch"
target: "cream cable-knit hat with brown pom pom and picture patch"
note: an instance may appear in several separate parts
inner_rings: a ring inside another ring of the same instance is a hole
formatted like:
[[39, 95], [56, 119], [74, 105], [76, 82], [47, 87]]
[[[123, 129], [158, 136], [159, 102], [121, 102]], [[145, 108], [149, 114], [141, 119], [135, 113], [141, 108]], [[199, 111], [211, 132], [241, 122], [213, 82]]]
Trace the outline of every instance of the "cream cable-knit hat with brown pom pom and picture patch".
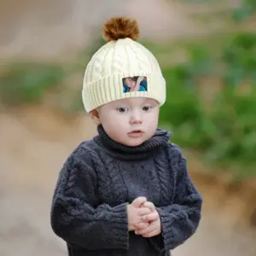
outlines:
[[107, 41], [90, 59], [82, 90], [86, 112], [108, 102], [129, 97], [166, 102], [166, 80], [158, 61], [137, 42], [137, 20], [117, 17], [103, 26]]

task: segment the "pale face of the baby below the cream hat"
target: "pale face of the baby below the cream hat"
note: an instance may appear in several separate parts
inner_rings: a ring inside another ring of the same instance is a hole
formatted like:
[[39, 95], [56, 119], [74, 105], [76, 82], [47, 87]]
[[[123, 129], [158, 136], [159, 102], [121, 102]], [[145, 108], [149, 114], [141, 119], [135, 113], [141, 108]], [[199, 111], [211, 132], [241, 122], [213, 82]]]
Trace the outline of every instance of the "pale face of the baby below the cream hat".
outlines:
[[135, 147], [154, 135], [159, 110], [159, 103], [155, 100], [134, 97], [109, 102], [98, 109], [98, 114], [109, 137]]

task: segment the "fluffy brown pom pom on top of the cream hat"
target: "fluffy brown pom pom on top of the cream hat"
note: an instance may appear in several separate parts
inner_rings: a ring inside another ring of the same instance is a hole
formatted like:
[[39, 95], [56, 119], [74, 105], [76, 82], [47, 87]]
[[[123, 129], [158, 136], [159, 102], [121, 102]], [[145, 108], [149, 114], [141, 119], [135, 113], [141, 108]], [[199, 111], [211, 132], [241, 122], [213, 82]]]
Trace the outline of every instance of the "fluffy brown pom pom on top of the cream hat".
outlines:
[[131, 38], [137, 41], [139, 27], [137, 20], [128, 17], [113, 17], [103, 26], [103, 38], [109, 41], [116, 41], [121, 38]]

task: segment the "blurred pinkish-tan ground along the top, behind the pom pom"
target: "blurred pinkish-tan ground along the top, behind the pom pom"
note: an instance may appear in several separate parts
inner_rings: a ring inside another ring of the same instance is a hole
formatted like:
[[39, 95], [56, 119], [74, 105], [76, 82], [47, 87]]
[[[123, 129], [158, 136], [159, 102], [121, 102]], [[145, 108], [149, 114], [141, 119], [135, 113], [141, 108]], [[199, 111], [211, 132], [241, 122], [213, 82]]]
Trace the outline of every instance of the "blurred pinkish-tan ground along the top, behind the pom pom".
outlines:
[[[233, 2], [223, 0], [218, 3], [218, 9], [236, 5], [236, 1]], [[223, 26], [219, 21], [213, 22], [209, 29], [191, 20], [188, 14], [191, 11], [209, 11], [209, 7], [204, 4], [202, 7], [201, 4], [192, 4], [184, 8], [176, 0], [108, 0], [106, 3], [104, 0], [2, 1], [0, 54], [6, 60], [20, 57], [67, 59], [73, 55], [73, 51], [88, 45], [98, 30], [102, 29], [102, 23], [113, 15], [136, 17], [141, 37], [158, 41], [184, 36], [197, 37]]]

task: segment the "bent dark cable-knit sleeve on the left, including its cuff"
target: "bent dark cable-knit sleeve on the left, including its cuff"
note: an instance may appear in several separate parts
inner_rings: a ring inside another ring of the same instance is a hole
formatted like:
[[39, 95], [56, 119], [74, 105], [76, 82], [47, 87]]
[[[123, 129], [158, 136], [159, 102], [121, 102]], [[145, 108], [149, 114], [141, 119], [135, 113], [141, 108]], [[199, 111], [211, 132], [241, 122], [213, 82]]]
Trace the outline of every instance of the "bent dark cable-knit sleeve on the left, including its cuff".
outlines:
[[96, 172], [89, 162], [70, 157], [55, 187], [51, 227], [67, 243], [88, 250], [127, 250], [126, 204], [97, 205], [96, 182]]

